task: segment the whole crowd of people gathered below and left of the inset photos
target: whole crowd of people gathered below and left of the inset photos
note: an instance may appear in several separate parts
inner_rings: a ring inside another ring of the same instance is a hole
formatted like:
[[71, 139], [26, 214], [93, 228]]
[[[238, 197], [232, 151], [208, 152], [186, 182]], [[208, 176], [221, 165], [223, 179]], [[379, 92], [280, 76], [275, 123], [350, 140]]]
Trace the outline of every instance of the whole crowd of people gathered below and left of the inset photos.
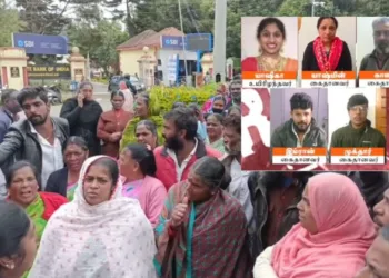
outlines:
[[161, 132], [124, 85], [103, 111], [82, 82], [60, 117], [3, 92], [0, 277], [389, 278], [388, 173], [242, 171], [240, 88]]

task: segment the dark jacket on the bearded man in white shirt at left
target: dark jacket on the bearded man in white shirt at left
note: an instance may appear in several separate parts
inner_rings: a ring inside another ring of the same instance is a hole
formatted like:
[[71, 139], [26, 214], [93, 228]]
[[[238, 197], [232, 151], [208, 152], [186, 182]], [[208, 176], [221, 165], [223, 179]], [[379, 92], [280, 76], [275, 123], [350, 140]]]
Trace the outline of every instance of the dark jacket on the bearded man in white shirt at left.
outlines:
[[[68, 121], [61, 118], [51, 117], [54, 125], [56, 137], [60, 140], [62, 147], [69, 138]], [[39, 173], [42, 172], [42, 148], [36, 133], [31, 132], [29, 121], [21, 120], [14, 122], [0, 143], [0, 166], [3, 171], [19, 160], [31, 162]]]

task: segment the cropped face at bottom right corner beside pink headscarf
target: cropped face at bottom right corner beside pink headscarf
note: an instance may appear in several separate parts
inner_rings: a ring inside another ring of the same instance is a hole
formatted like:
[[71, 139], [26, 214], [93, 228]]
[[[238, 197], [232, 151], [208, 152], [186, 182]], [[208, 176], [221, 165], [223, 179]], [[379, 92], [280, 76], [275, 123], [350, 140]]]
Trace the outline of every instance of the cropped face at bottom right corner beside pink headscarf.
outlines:
[[367, 266], [356, 278], [389, 278], [389, 226], [383, 227], [366, 254]]

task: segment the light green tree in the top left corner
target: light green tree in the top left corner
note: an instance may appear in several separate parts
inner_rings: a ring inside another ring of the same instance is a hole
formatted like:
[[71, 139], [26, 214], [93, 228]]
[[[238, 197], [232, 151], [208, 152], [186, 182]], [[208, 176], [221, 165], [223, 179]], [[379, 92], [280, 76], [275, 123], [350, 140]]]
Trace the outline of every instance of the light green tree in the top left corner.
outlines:
[[12, 46], [12, 33], [23, 28], [18, 10], [11, 9], [8, 2], [0, 0], [0, 47]]

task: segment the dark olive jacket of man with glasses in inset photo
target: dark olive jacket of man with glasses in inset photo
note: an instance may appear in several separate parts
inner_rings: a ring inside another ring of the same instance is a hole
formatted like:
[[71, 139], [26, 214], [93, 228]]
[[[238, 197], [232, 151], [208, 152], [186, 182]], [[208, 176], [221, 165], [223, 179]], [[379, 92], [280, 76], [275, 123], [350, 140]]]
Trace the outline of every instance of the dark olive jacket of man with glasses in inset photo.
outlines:
[[386, 148], [381, 131], [371, 127], [368, 120], [366, 128], [355, 129], [351, 122], [332, 133], [331, 148]]

